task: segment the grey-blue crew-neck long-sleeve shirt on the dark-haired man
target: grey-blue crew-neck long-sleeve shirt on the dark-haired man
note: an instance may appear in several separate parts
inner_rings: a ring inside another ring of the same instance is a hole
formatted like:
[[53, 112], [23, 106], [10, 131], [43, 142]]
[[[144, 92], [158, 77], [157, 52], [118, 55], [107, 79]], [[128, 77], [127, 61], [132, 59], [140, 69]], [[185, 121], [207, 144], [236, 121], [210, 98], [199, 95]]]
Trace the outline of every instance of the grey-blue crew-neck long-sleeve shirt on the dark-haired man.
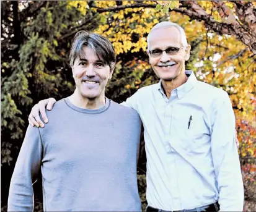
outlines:
[[77, 108], [68, 98], [49, 111], [48, 124], [29, 126], [15, 165], [8, 211], [32, 211], [43, 177], [44, 211], [141, 211], [136, 111], [106, 99], [104, 108]]

